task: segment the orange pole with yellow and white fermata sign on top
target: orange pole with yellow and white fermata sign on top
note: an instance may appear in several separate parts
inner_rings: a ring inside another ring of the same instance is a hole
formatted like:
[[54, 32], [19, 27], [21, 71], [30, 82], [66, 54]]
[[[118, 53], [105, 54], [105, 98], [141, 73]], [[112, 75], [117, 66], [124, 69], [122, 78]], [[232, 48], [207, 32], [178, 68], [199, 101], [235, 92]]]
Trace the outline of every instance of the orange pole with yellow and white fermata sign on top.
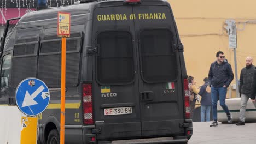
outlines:
[[66, 37], [70, 37], [70, 13], [58, 13], [57, 35], [61, 39], [61, 125], [60, 143], [65, 143]]

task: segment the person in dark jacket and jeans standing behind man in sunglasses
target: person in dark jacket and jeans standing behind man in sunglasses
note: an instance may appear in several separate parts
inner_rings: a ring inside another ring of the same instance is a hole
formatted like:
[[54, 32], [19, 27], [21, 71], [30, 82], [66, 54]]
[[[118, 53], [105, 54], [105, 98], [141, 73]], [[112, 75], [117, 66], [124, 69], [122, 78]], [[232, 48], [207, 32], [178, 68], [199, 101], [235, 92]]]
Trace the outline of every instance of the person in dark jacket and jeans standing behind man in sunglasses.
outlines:
[[[209, 85], [208, 78], [205, 77], [203, 79], [203, 82], [205, 82], [204, 85], [201, 86], [199, 95], [201, 95], [201, 122], [209, 122], [210, 121], [210, 113], [211, 113], [211, 105], [212, 105], [212, 100], [211, 100], [211, 92], [207, 92], [207, 87]], [[209, 88], [210, 89], [210, 88]], [[206, 119], [205, 119], [206, 115]], [[205, 121], [206, 120], [206, 121]]]

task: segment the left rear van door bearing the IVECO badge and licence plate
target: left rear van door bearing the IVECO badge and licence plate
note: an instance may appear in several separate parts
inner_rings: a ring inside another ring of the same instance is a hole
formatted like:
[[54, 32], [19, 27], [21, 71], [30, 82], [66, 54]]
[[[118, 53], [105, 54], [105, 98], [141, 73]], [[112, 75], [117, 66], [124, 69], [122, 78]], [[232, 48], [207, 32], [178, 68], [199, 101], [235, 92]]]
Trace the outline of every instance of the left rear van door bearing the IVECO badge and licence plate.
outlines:
[[141, 136], [132, 7], [119, 3], [94, 10], [92, 100], [95, 125], [101, 130], [97, 139]]

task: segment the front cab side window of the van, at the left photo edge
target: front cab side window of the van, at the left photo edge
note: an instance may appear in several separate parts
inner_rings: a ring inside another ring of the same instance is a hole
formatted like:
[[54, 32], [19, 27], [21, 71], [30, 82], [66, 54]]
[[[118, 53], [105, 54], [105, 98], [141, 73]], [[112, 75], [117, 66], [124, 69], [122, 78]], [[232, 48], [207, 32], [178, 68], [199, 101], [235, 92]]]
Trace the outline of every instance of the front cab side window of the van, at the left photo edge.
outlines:
[[1, 88], [9, 86], [9, 75], [11, 67], [11, 55], [5, 55], [3, 57], [2, 67], [1, 67]]

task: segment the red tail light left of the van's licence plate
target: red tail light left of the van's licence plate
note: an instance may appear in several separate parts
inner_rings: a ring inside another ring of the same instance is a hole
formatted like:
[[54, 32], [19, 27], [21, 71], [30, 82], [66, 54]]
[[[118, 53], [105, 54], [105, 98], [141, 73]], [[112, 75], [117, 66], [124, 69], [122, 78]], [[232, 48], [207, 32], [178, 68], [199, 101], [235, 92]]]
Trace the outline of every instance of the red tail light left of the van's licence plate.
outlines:
[[92, 89], [91, 84], [83, 84], [83, 111], [84, 124], [94, 124], [92, 116]]

